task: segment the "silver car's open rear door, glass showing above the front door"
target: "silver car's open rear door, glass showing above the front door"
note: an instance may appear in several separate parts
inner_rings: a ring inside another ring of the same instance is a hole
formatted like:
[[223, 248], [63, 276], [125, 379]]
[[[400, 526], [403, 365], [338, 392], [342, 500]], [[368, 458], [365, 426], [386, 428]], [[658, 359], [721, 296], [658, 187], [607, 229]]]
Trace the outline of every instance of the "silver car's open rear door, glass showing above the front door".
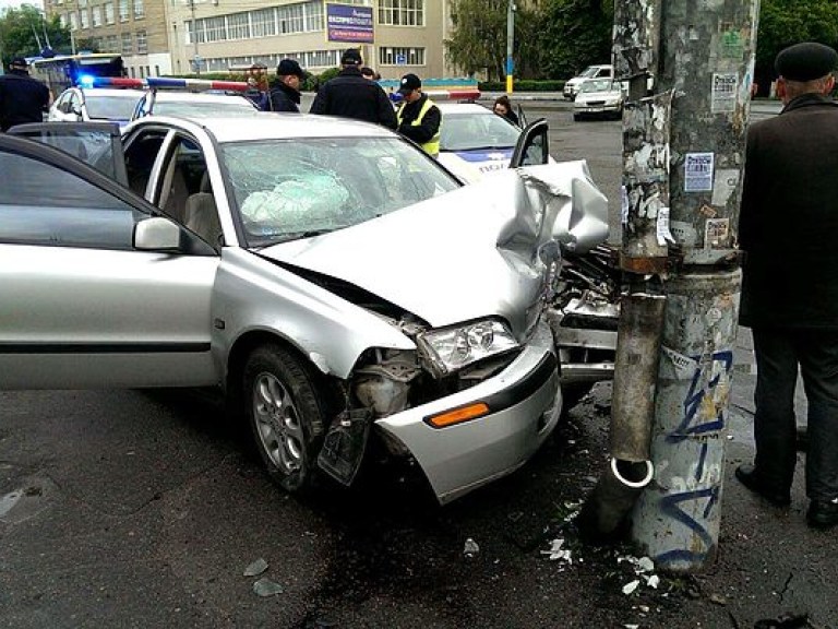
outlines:
[[9, 133], [60, 149], [128, 186], [122, 138], [116, 122], [32, 122], [12, 127]]

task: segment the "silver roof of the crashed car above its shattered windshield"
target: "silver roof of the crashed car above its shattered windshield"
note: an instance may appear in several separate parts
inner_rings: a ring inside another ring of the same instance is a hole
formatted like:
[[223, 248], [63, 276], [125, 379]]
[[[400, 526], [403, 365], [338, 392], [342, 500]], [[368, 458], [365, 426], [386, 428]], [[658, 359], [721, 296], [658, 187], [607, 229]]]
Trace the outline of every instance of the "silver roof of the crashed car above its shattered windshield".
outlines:
[[189, 130], [197, 126], [211, 132], [218, 142], [253, 140], [286, 140], [289, 138], [398, 138], [384, 127], [313, 114], [277, 114], [274, 111], [219, 112], [190, 118], [189, 116], [149, 116], [133, 122], [137, 126], [167, 124]]

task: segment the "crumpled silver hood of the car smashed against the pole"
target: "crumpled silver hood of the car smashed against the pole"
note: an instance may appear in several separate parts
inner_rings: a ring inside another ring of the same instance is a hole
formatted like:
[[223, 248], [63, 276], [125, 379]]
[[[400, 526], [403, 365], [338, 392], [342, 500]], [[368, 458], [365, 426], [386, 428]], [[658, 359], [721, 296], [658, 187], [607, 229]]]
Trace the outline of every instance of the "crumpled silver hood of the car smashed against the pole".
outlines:
[[499, 316], [523, 339], [535, 325], [561, 241], [608, 236], [608, 206], [585, 162], [488, 178], [261, 254], [360, 286], [434, 328]]

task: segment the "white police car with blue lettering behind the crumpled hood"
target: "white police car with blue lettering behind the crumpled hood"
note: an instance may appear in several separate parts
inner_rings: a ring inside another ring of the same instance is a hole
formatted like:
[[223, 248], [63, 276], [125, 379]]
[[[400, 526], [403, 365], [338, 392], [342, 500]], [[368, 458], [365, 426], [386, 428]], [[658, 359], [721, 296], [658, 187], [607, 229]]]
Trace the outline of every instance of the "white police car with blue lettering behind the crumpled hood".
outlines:
[[508, 168], [519, 127], [475, 103], [436, 105], [442, 111], [439, 161], [445, 168], [466, 183]]

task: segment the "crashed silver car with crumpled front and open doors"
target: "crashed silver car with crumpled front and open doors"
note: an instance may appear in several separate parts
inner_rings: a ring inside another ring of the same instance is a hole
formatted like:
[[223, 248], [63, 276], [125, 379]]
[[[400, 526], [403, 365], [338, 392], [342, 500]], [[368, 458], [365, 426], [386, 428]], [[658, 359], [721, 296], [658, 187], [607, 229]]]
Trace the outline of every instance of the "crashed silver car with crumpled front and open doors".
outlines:
[[[116, 139], [75, 144], [101, 167]], [[462, 187], [385, 129], [272, 114], [122, 141], [115, 177], [0, 137], [0, 388], [219, 387], [290, 491], [376, 439], [446, 502], [550, 434], [549, 270], [608, 224], [584, 163]]]

